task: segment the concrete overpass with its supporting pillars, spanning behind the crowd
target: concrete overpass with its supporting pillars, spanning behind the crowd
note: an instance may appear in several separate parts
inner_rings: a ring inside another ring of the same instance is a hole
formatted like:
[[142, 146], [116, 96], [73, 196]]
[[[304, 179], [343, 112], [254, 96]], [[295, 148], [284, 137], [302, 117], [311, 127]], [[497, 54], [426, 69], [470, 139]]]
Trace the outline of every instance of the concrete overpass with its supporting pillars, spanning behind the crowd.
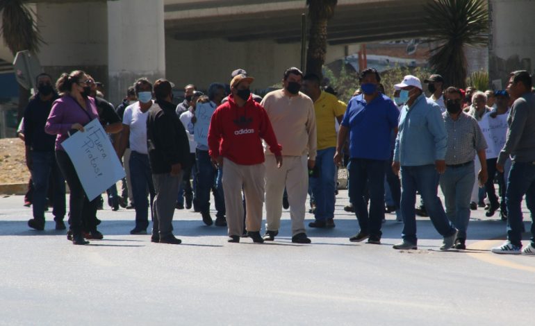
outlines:
[[[428, 1], [339, 0], [328, 27], [327, 62], [362, 42], [429, 35], [421, 19]], [[534, 72], [535, 1], [490, 3], [496, 74], [520, 67]], [[84, 69], [108, 80], [115, 103], [139, 76], [206, 87], [228, 83], [230, 71], [242, 67], [257, 78], [255, 87], [273, 85], [286, 67], [299, 66], [306, 12], [304, 0], [33, 0], [31, 6], [47, 42], [39, 53], [44, 69], [54, 77]], [[0, 59], [13, 60], [1, 45]]]

